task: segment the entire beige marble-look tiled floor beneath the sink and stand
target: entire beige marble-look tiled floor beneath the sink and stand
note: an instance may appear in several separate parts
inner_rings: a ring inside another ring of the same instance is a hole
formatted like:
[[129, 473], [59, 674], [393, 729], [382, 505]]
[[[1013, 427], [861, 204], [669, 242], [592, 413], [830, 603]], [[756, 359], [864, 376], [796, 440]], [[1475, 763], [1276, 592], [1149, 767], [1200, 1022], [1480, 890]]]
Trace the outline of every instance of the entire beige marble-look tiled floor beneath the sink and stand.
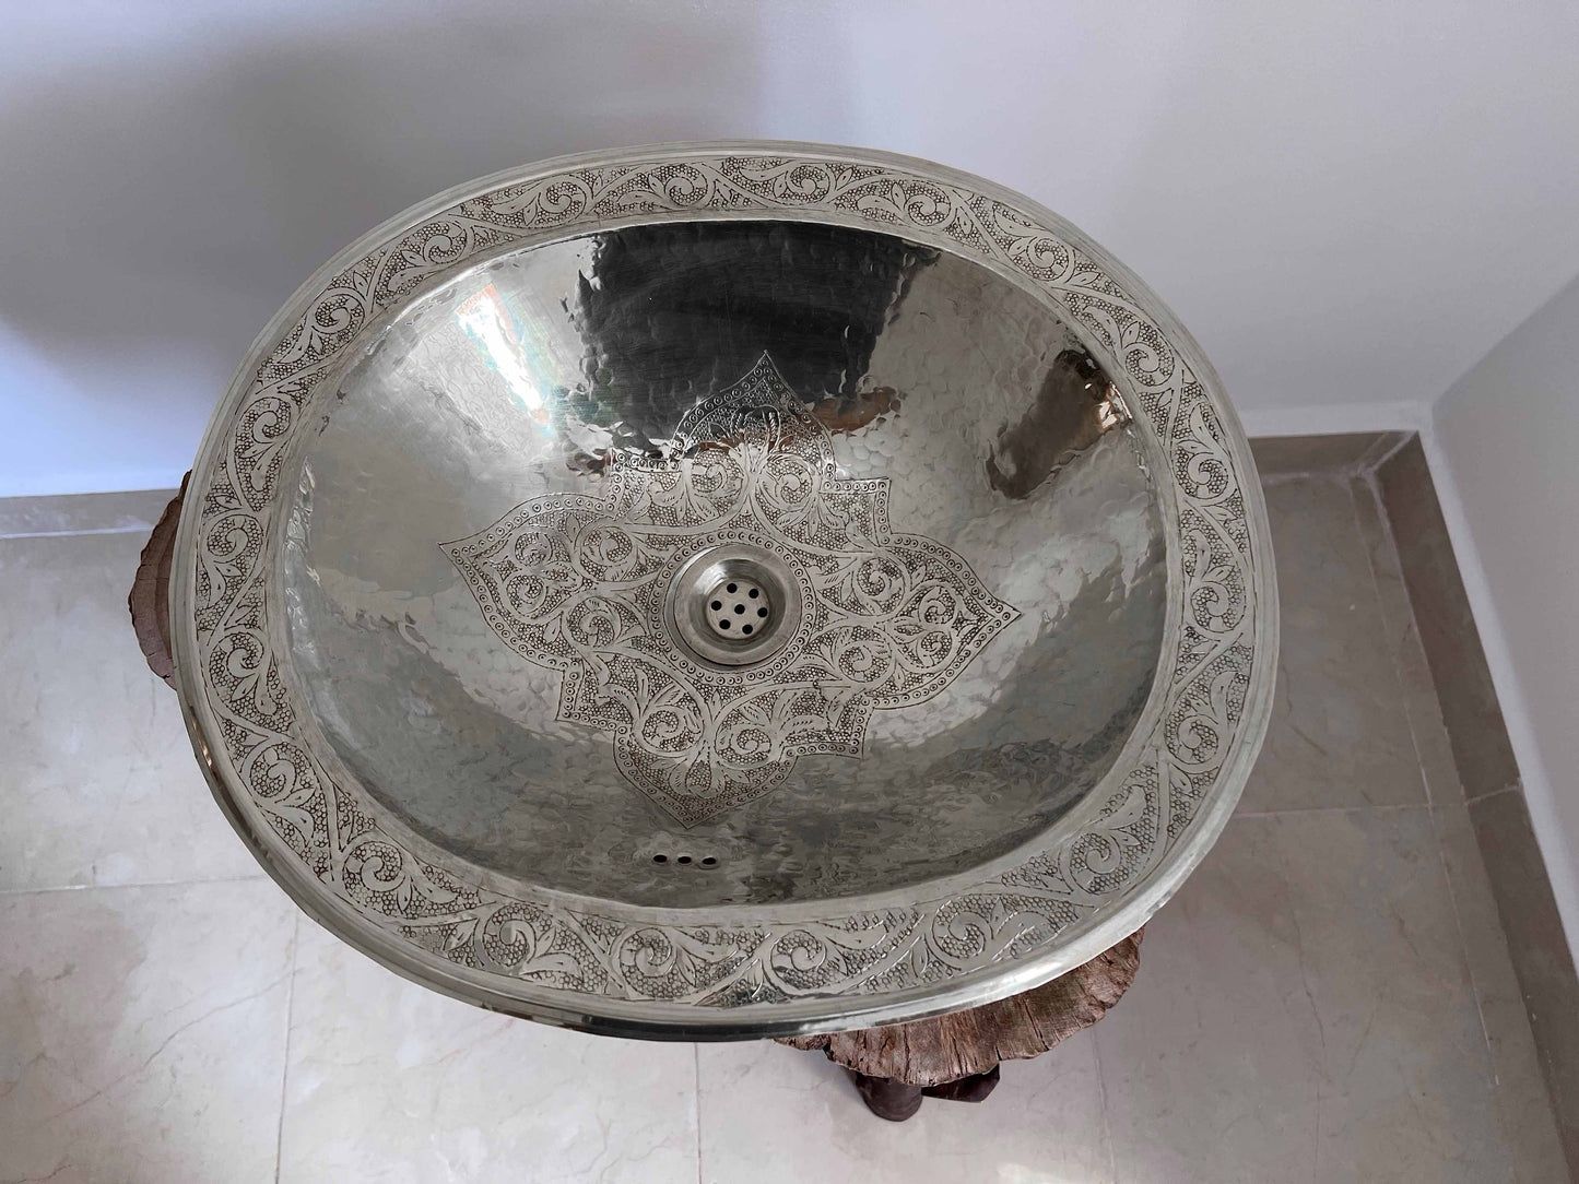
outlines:
[[0, 538], [0, 1181], [1566, 1178], [1363, 483], [1268, 486], [1273, 731], [1137, 985], [985, 1105], [903, 1126], [816, 1055], [504, 1020], [298, 917], [142, 666], [158, 499], [128, 497], [111, 532]]

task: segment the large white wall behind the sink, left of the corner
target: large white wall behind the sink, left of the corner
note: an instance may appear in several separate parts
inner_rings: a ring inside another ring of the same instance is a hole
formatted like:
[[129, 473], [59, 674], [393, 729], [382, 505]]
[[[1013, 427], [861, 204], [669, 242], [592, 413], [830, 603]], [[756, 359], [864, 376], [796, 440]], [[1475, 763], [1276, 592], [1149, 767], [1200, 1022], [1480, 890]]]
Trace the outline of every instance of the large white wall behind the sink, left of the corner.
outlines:
[[1146, 276], [1273, 431], [1424, 407], [1579, 270], [1570, 3], [57, 0], [5, 25], [0, 496], [174, 483], [319, 262], [583, 148], [823, 139], [990, 175]]

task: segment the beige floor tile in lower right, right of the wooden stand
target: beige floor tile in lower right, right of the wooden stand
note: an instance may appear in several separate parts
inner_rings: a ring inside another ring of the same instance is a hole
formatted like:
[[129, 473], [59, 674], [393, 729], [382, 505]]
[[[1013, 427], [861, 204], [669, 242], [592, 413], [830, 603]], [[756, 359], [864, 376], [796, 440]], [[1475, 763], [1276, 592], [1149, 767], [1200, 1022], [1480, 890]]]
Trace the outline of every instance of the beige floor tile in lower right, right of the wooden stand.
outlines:
[[1513, 1178], [1427, 810], [1235, 819], [1094, 1031], [1123, 1181]]

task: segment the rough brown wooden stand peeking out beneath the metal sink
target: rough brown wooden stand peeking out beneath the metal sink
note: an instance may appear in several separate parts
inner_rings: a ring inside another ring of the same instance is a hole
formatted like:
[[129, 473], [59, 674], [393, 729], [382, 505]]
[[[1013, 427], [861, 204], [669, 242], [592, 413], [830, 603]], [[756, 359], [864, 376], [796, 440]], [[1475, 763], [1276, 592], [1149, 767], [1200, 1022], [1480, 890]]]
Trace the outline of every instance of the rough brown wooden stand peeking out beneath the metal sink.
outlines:
[[[167, 601], [185, 496], [186, 478], [142, 548], [142, 564], [126, 598], [148, 668], [172, 685]], [[1124, 938], [1063, 977], [984, 1007], [886, 1028], [796, 1036], [780, 1043], [823, 1050], [829, 1061], [850, 1070], [867, 1108], [892, 1122], [914, 1116], [927, 1097], [981, 1102], [998, 1085], [1001, 1061], [1041, 1056], [1107, 1015], [1135, 980], [1143, 933]]]

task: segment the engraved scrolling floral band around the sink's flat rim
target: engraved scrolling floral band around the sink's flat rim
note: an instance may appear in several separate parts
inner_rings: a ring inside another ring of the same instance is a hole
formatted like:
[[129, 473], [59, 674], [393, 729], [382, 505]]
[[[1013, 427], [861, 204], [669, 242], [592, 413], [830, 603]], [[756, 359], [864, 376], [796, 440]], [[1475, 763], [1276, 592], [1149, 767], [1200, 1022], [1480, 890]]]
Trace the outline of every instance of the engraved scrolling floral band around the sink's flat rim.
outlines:
[[[1018, 272], [1123, 371], [1134, 410], [1168, 461], [1184, 603], [1172, 671], [1159, 671], [1168, 679], [1164, 709], [1140, 759], [1116, 770], [1118, 789], [1085, 829], [974, 887], [913, 906], [815, 922], [657, 924], [467, 882], [403, 846], [358, 791], [313, 756], [305, 709], [289, 701], [272, 652], [268, 619], [279, 609], [265, 553], [289, 493], [279, 481], [286, 451], [311, 422], [308, 404], [339, 352], [382, 311], [483, 253], [674, 216], [824, 216], [946, 245]], [[414, 947], [407, 957], [420, 950], [467, 968], [523, 1004], [568, 996], [572, 1010], [591, 1015], [600, 1014], [597, 998], [722, 1009], [843, 996], [848, 1009], [854, 995], [867, 996], [859, 1004], [867, 1007], [1045, 954], [1060, 933], [1110, 911], [1123, 889], [1157, 871], [1214, 789], [1236, 794], [1244, 761], [1233, 783], [1217, 781], [1235, 740], [1262, 726], [1263, 712], [1252, 707], [1270, 674], [1255, 654], [1263, 611], [1255, 573], [1270, 556], [1257, 554], [1260, 534], [1227, 429], [1148, 302], [1003, 197], [900, 164], [794, 150], [567, 164], [395, 232], [302, 306], [308, 311], [232, 396], [234, 410], [210, 426], [185, 597], [196, 650], [183, 665], [201, 677], [212, 714], [204, 753], [229, 764], [278, 845], [395, 946]]]

